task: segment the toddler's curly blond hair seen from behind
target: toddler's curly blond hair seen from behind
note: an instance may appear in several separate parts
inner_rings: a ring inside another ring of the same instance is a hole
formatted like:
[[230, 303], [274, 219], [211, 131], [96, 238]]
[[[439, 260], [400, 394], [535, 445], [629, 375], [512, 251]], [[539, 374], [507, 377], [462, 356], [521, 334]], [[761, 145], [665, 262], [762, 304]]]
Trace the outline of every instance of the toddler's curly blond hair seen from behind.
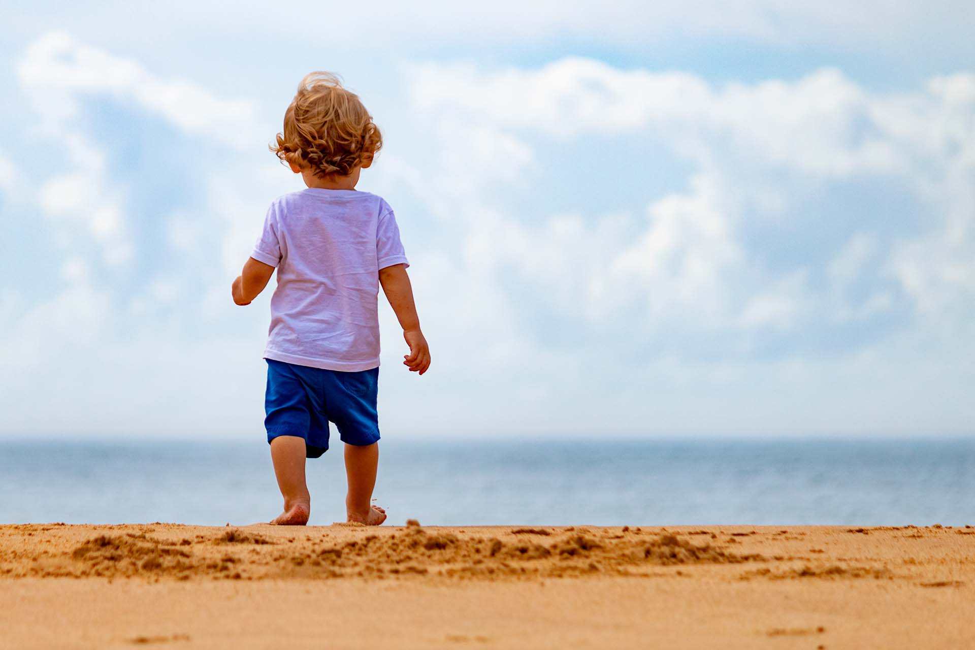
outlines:
[[366, 166], [382, 147], [382, 134], [359, 96], [342, 88], [337, 75], [305, 75], [285, 111], [285, 130], [269, 145], [282, 162], [310, 168], [316, 176], [348, 175]]

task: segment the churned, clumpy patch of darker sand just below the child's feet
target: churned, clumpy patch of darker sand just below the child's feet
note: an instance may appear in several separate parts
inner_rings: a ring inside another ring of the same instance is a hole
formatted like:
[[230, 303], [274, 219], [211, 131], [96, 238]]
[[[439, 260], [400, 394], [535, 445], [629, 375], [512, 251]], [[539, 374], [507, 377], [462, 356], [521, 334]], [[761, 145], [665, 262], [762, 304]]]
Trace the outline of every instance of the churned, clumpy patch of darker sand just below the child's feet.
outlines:
[[[460, 534], [419, 525], [406, 528], [283, 529], [268, 536], [249, 527], [197, 534], [193, 539], [143, 526], [139, 532], [98, 534], [59, 553], [45, 551], [19, 562], [16, 576], [191, 578], [339, 578], [439, 575], [628, 575], [643, 567], [725, 564], [761, 560], [668, 532], [640, 529], [515, 528], [493, 534]], [[336, 530], [337, 529], [337, 530]], [[57, 531], [57, 528], [48, 530]], [[299, 540], [293, 534], [301, 536]], [[315, 534], [308, 534], [315, 531]], [[319, 532], [326, 531], [326, 532]], [[328, 532], [331, 531], [331, 532]], [[52, 534], [57, 534], [56, 532]], [[2, 566], [2, 562], [0, 562]]]

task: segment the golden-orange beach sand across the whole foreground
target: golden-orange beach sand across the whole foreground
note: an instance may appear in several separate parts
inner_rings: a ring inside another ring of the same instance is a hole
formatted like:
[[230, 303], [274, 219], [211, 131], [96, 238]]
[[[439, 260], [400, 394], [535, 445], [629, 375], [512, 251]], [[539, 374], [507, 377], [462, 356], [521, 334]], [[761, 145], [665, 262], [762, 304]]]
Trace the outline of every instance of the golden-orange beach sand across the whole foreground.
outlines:
[[971, 527], [0, 526], [0, 648], [973, 639]]

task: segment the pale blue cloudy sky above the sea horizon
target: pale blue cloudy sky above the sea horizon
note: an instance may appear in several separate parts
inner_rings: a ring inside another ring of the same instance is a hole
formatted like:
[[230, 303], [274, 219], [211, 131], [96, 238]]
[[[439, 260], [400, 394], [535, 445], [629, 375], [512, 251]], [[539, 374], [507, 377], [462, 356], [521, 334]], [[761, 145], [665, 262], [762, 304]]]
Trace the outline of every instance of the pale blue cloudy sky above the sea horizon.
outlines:
[[0, 438], [261, 438], [312, 70], [431, 345], [381, 301], [384, 438], [975, 433], [966, 3], [139, 4], [0, 9]]

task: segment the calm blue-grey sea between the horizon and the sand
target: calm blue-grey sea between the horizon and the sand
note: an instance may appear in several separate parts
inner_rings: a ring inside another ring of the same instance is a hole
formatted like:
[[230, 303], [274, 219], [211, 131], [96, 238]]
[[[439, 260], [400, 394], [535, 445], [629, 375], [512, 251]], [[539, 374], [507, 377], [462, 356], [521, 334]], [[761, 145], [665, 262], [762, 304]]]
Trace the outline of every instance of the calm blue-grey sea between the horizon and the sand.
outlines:
[[[389, 522], [975, 524], [975, 440], [383, 441]], [[344, 519], [341, 449], [308, 461]], [[0, 523], [241, 525], [281, 509], [267, 443], [0, 442]]]

